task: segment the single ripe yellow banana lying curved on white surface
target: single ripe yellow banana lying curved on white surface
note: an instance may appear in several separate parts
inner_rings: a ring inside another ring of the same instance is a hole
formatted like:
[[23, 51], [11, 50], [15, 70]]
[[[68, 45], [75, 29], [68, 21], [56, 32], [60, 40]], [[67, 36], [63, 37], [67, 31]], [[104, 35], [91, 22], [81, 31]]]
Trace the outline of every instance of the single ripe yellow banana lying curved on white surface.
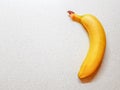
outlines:
[[78, 72], [80, 79], [87, 78], [94, 74], [102, 62], [106, 47], [106, 36], [103, 26], [99, 20], [90, 14], [78, 15], [73, 11], [68, 11], [72, 20], [82, 24], [88, 33], [90, 47], [85, 60]]

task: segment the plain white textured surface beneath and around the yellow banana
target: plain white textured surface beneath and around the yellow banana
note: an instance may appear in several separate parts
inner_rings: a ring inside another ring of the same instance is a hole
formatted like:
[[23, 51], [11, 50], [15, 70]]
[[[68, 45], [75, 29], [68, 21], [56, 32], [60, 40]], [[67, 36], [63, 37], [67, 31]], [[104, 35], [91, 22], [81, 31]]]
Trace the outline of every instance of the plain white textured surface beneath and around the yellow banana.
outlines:
[[[120, 90], [119, 0], [0, 0], [0, 90]], [[107, 48], [89, 83], [77, 77], [89, 39], [67, 15], [102, 22]]]

